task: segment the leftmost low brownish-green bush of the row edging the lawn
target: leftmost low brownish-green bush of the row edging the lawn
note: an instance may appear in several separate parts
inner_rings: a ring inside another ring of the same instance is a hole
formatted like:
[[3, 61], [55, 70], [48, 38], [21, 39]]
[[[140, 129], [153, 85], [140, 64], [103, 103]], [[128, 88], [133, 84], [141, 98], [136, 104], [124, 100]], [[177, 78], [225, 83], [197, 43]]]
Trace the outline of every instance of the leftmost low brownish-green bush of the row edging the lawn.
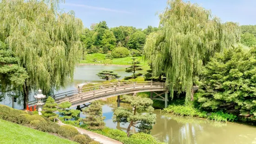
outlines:
[[0, 118], [13, 122], [19, 123], [20, 114], [28, 114], [26, 111], [20, 111], [17, 109], [13, 109], [7, 105], [0, 105]]

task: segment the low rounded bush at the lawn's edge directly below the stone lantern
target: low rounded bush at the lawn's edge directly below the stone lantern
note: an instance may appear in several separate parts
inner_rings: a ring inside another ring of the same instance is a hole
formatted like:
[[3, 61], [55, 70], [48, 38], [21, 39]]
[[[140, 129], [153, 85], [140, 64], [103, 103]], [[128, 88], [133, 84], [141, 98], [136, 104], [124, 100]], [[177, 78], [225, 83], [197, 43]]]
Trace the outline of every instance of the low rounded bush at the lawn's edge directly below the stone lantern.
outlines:
[[51, 133], [58, 133], [60, 127], [59, 124], [56, 124], [52, 121], [40, 121], [40, 123], [34, 123], [32, 126], [35, 127], [36, 130]]

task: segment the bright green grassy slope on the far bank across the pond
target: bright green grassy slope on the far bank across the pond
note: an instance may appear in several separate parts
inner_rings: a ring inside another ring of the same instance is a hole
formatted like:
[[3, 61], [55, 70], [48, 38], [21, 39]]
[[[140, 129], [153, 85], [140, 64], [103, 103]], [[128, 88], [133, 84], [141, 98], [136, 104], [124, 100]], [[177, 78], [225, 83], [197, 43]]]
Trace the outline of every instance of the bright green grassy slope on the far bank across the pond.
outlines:
[[[103, 61], [105, 59], [105, 55], [103, 53], [92, 53], [92, 54], [87, 54], [85, 56], [85, 60], [81, 60], [80, 64], [103, 64]], [[94, 62], [93, 59], [98, 59], [98, 62]], [[129, 62], [132, 61], [132, 57], [126, 57], [126, 58], [118, 58], [118, 59], [112, 59], [112, 64], [113, 65], [130, 65]], [[142, 60], [142, 57], [136, 57], [138, 61], [140, 61], [142, 68], [143, 68], [143, 73], [146, 72], [147, 69], [150, 67], [148, 66], [146, 61]], [[100, 62], [99, 62], [100, 61]]]

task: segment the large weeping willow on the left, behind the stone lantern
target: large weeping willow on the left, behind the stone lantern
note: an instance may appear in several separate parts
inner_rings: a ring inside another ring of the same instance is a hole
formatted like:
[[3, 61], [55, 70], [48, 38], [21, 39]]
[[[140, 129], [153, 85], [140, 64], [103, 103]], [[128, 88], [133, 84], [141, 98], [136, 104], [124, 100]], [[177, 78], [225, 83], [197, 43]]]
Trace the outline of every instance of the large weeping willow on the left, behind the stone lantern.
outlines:
[[73, 79], [81, 58], [83, 24], [73, 12], [59, 12], [62, 1], [0, 0], [0, 40], [29, 76], [21, 88], [24, 108], [32, 90], [53, 92]]

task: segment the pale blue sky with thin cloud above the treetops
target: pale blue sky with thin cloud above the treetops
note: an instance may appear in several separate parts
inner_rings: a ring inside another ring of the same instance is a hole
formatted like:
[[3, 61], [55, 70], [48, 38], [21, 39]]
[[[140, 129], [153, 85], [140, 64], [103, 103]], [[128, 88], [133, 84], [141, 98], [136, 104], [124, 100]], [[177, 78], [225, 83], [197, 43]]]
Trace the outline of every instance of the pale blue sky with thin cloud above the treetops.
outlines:
[[[185, 0], [187, 1], [187, 0]], [[65, 12], [73, 10], [84, 26], [105, 20], [109, 27], [158, 26], [157, 12], [166, 7], [167, 0], [66, 0], [61, 4]], [[206, 9], [223, 22], [234, 21], [240, 25], [256, 25], [256, 0], [190, 0]]]

